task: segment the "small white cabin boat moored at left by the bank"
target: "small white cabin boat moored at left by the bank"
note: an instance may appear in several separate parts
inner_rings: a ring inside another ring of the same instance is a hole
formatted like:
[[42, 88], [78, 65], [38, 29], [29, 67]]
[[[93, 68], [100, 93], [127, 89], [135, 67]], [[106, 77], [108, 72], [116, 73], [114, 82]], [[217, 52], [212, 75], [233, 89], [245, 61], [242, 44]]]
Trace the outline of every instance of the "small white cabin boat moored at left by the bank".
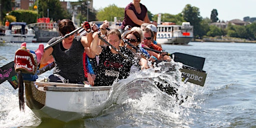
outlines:
[[26, 22], [11, 22], [4, 35], [0, 36], [1, 42], [32, 42], [34, 30], [26, 26]]

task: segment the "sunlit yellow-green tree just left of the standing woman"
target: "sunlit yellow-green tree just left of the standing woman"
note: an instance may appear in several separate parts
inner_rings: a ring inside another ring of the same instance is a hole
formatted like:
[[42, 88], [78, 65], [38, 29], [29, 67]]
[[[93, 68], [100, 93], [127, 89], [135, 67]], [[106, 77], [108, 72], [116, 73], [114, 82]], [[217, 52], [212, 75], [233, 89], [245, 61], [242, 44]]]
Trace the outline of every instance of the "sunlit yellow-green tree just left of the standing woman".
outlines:
[[[113, 21], [114, 17], [124, 17], [124, 8], [117, 7], [115, 4], [108, 5], [107, 7], [101, 8], [96, 13], [96, 18], [99, 21], [108, 20]], [[122, 20], [120, 19], [120, 20]]]

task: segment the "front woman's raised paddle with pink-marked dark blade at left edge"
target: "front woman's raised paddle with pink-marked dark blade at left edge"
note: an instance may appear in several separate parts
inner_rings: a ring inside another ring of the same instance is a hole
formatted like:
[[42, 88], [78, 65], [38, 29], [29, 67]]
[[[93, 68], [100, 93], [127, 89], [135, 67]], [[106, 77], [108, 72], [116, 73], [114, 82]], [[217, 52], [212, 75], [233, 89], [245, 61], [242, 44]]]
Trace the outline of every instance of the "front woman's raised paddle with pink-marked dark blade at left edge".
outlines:
[[[48, 46], [44, 47], [43, 50], [46, 50], [50, 47], [52, 47], [53, 45], [57, 44], [58, 42], [62, 41], [63, 39], [69, 37], [70, 35], [74, 34], [76, 31], [78, 31], [79, 29], [81, 29], [81, 27], [76, 28], [75, 30], [73, 30], [72, 32], [65, 34], [63, 37], [59, 38], [58, 40], [54, 41], [53, 43], [49, 44]], [[47, 65], [46, 65], [47, 66]], [[47, 71], [47, 70], [45, 70]], [[45, 72], [44, 71], [44, 72]], [[14, 89], [17, 88], [17, 76], [16, 76], [16, 72], [14, 70], [14, 62], [11, 61], [5, 65], [3, 65], [2, 67], [0, 67], [0, 83], [4, 82], [5, 80], [8, 80], [9, 83], [12, 85], [12, 87]]]

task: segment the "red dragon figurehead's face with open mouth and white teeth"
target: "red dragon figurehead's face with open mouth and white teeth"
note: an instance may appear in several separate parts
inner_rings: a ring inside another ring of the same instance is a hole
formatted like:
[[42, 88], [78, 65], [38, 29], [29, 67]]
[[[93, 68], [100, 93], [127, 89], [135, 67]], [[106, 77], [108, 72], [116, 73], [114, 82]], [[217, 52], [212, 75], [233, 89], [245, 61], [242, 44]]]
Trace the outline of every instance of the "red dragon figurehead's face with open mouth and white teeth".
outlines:
[[14, 68], [18, 72], [21, 70], [23, 73], [35, 74], [37, 63], [34, 61], [33, 55], [26, 50], [25, 46], [19, 48], [15, 52]]

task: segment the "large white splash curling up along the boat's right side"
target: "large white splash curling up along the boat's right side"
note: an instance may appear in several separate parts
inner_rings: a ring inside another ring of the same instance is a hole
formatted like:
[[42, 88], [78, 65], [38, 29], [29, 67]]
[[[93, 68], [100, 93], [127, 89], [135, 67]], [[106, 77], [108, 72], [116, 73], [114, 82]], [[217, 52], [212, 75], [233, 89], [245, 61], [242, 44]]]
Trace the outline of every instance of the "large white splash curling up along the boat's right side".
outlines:
[[[181, 81], [181, 66], [176, 62], [164, 62], [158, 67], [132, 73], [126, 79], [113, 83], [103, 114], [85, 119], [86, 126], [102, 126], [100, 123], [95, 124], [96, 120], [110, 122], [108, 126], [185, 127], [192, 123], [189, 108], [193, 107], [193, 103], [188, 100], [195, 95], [190, 90], [194, 85], [187, 86]], [[175, 93], [166, 93], [156, 83], [175, 88]]]

